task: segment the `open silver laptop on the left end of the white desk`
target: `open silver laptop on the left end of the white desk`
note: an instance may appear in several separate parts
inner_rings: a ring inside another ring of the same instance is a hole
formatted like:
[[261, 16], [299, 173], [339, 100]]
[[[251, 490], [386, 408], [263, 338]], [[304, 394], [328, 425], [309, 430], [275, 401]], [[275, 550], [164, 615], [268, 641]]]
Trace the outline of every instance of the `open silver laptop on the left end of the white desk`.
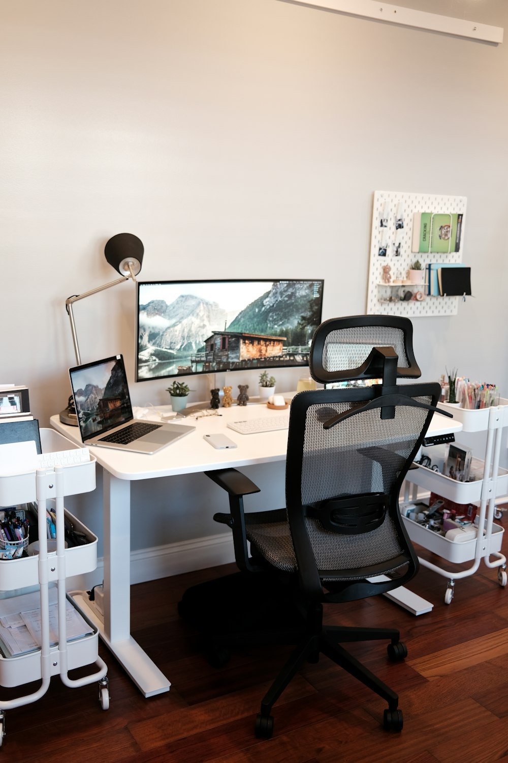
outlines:
[[69, 376], [85, 445], [155, 453], [196, 429], [135, 419], [121, 355], [77, 365]]

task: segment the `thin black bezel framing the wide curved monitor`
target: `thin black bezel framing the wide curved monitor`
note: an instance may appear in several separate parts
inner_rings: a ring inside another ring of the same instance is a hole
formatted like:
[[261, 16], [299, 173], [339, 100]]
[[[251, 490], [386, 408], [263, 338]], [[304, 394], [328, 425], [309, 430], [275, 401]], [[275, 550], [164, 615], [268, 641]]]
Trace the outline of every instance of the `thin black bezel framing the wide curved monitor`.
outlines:
[[[166, 379], [166, 378], [193, 378], [195, 376], [203, 376], [210, 373], [231, 373], [232, 371], [237, 371], [238, 369], [221, 369], [220, 371], [196, 371], [190, 374], [167, 374], [167, 375], [161, 375], [161, 376], [152, 376], [151, 378], [140, 378], [139, 377], [139, 289], [142, 286], [149, 286], [149, 285], [156, 285], [156, 284], [213, 284], [213, 283], [277, 283], [277, 282], [288, 282], [288, 283], [299, 283], [299, 282], [307, 282], [307, 283], [319, 283], [321, 284], [320, 288], [320, 304], [319, 304], [319, 314], [320, 314], [320, 323], [323, 316], [323, 291], [324, 291], [324, 278], [177, 278], [177, 279], [163, 279], [158, 278], [155, 281], [136, 281], [136, 344], [135, 344], [135, 380], [136, 382], [142, 382], [142, 381], [157, 381], [158, 379]], [[316, 327], [317, 328], [317, 327]], [[310, 346], [309, 346], [310, 349]], [[284, 365], [283, 368], [305, 368], [305, 366], [308, 365], [307, 363], [294, 363], [291, 365]], [[257, 364], [253, 366], [252, 368], [245, 368], [243, 370], [245, 371], [257, 371], [257, 369], [269, 369], [269, 368], [280, 368], [281, 366], [276, 366], [271, 363], [267, 363], [266, 365]]]

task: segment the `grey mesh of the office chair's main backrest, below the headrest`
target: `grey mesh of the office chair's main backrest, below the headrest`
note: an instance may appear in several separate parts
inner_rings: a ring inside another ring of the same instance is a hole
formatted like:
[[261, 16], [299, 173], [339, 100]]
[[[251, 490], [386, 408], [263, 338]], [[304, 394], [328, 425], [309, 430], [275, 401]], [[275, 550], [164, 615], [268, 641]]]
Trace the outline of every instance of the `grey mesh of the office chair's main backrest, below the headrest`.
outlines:
[[[428, 390], [430, 385], [416, 386]], [[343, 535], [325, 530], [315, 517], [305, 518], [316, 565], [330, 573], [324, 576], [329, 580], [340, 579], [340, 570], [369, 565], [385, 565], [389, 571], [390, 560], [404, 553], [407, 540], [400, 529], [398, 491], [429, 415], [427, 409], [401, 405], [395, 408], [394, 419], [382, 419], [380, 409], [375, 408], [325, 430], [324, 421], [350, 410], [355, 399], [351, 394], [350, 390], [302, 393], [312, 395], [306, 398], [312, 402], [300, 404], [297, 396], [291, 411], [286, 462], [289, 520], [293, 507], [302, 510], [333, 497], [379, 493], [388, 497], [382, 524], [369, 532]], [[433, 403], [432, 394], [414, 399]]]

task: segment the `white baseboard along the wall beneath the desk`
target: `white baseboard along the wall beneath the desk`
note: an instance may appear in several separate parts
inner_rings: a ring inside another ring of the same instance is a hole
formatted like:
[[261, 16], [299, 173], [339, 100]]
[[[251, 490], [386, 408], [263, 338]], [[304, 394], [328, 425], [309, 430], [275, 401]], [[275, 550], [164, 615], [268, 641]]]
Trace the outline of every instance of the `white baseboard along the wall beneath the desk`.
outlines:
[[[235, 561], [231, 533], [193, 538], [152, 549], [139, 549], [130, 555], [130, 583], [145, 583], [183, 572], [225, 565]], [[87, 575], [68, 578], [67, 589], [88, 591], [104, 578], [104, 559], [97, 559], [97, 569]]]

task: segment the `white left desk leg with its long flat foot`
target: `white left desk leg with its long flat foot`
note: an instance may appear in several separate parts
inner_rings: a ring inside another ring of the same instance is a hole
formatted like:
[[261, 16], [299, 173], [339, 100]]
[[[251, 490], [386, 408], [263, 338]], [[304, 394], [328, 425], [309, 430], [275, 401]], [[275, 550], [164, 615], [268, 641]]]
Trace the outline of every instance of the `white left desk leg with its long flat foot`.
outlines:
[[171, 686], [130, 636], [130, 482], [104, 474], [104, 623], [86, 602], [79, 604], [101, 638], [145, 697]]

